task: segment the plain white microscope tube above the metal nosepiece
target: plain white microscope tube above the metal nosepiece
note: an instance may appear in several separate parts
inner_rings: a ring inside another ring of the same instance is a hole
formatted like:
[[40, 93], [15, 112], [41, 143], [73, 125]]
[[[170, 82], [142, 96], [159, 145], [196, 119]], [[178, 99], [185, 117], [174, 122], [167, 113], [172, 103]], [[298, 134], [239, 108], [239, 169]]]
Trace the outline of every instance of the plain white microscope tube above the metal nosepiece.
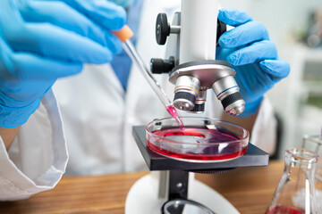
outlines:
[[182, 0], [179, 63], [215, 60], [217, 0]]

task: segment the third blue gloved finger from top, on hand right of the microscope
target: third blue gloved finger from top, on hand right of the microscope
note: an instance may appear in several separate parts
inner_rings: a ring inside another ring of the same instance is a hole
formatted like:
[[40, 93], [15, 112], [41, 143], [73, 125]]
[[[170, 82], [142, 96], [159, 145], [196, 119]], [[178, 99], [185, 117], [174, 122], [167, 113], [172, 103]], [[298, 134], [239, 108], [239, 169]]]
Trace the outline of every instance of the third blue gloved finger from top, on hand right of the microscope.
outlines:
[[277, 57], [275, 44], [272, 41], [264, 40], [234, 51], [227, 56], [226, 60], [234, 66], [239, 66], [263, 60], [275, 60]]

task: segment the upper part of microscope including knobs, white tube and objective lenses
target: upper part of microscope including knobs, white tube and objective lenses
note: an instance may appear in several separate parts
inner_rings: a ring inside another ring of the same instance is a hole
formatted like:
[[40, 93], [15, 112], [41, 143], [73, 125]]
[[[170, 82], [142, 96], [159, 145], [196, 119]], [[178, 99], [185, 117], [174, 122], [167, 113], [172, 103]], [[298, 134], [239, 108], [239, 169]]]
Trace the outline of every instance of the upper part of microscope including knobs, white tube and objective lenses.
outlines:
[[167, 41], [168, 59], [152, 59], [152, 73], [168, 73], [174, 84], [174, 106], [182, 111], [205, 111], [207, 90], [212, 88], [231, 115], [239, 115], [245, 102], [234, 80], [233, 67], [216, 60], [217, 39], [226, 26], [217, 21], [218, 1], [182, 1], [182, 12], [174, 14], [172, 26], [165, 13], [157, 16], [158, 45]]

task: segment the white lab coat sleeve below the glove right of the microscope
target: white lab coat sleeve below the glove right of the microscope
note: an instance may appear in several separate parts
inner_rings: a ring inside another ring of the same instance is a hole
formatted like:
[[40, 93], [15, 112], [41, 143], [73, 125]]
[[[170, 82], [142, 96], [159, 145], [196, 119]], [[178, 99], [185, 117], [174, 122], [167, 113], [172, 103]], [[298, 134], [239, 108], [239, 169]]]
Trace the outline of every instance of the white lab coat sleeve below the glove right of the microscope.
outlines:
[[274, 153], [276, 126], [277, 121], [275, 119], [274, 108], [265, 96], [258, 109], [258, 116], [252, 128], [250, 143], [269, 154]]

